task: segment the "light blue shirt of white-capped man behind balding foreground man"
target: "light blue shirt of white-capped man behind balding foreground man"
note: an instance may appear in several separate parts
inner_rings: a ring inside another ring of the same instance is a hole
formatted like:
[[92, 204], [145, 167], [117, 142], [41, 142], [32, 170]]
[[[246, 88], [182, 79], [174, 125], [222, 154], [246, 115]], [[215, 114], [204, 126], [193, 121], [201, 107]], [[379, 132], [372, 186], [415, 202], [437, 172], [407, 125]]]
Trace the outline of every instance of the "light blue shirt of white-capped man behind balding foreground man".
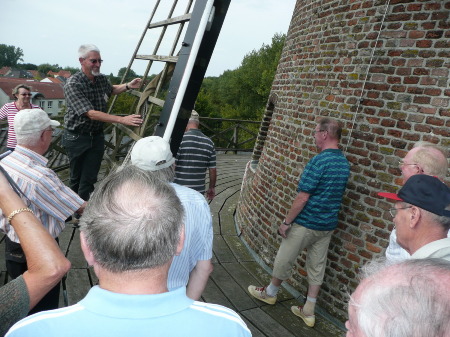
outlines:
[[169, 290], [185, 287], [198, 261], [212, 258], [213, 228], [209, 205], [205, 197], [191, 188], [170, 184], [177, 193], [185, 212], [184, 245], [181, 254], [173, 258], [169, 269]]

